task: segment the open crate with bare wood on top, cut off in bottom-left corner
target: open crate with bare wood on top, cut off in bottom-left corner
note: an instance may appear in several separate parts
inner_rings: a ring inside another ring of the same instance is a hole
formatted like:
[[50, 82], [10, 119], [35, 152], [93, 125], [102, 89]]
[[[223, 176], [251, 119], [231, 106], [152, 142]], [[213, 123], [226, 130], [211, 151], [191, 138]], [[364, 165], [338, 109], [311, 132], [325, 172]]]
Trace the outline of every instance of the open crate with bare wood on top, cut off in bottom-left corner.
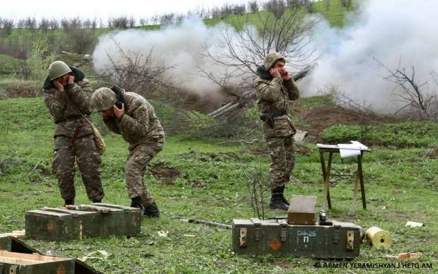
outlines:
[[0, 251], [0, 274], [75, 274], [75, 260]]

